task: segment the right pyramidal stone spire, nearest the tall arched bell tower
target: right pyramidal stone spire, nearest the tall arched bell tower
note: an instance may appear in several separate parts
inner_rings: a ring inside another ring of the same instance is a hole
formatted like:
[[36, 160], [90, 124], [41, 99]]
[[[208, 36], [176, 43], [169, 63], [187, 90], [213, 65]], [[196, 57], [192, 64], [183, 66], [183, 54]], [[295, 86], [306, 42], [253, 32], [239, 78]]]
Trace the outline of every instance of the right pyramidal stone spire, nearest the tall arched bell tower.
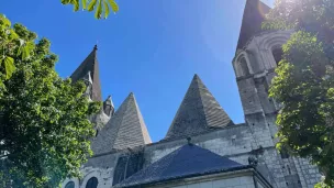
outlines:
[[232, 124], [226, 112], [194, 75], [165, 139], [191, 136]]

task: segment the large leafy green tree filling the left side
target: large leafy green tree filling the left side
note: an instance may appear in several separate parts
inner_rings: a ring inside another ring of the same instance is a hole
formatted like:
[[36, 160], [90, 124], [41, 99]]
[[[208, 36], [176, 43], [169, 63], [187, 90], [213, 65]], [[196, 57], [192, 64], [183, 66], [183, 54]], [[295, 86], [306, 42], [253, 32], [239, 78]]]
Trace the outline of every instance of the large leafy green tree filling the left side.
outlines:
[[82, 81], [57, 75], [48, 40], [2, 15], [0, 44], [0, 186], [57, 187], [92, 154], [88, 115], [101, 104], [82, 95]]

